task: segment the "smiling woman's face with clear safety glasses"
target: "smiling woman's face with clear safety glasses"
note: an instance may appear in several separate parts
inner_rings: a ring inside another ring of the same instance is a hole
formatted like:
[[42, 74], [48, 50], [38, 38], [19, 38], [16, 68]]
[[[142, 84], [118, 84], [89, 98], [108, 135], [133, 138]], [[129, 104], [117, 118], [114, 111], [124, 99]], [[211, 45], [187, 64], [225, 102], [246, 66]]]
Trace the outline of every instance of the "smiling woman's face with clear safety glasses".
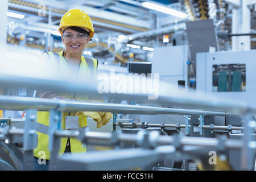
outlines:
[[[71, 39], [73, 37], [73, 39]], [[71, 28], [66, 28], [61, 39], [65, 44], [65, 51], [69, 53], [82, 53], [86, 44], [88, 44], [90, 37], [86, 36], [86, 39], [81, 39], [81, 33], [72, 30]]]

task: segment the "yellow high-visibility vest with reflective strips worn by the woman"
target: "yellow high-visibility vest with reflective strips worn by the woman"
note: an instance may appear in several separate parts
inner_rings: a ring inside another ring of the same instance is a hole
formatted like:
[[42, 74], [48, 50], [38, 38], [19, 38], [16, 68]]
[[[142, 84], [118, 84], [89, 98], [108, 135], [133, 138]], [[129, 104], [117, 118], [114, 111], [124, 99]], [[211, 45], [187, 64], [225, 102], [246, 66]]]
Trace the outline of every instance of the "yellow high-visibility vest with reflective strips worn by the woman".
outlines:
[[[58, 65], [61, 71], [63, 71], [66, 74], [70, 74], [68, 63], [64, 57], [63, 51], [58, 53], [54, 53], [54, 52], [47, 52], [47, 53], [49, 55], [49, 60], [51, 61], [51, 64]], [[84, 56], [82, 56], [78, 75], [88, 76], [88, 74], [90, 75], [90, 72], [96, 73], [97, 66], [98, 66], [98, 60], [85, 58]], [[65, 97], [67, 97], [67, 95], [65, 95]], [[68, 98], [74, 98], [74, 97], [80, 100], [88, 100], [88, 96], [79, 96], [75, 94], [73, 96], [69, 96]], [[61, 121], [61, 129], [65, 129], [65, 116], [67, 115], [73, 115], [73, 113], [63, 113], [62, 121]], [[37, 123], [42, 127], [42, 129], [49, 127], [49, 111], [38, 111]], [[85, 126], [87, 126], [86, 117], [84, 115], [79, 115], [79, 127], [85, 127]], [[44, 133], [44, 132], [42, 133], [42, 132], [37, 131], [38, 147], [34, 149], [34, 156], [36, 158], [42, 158], [42, 159], [48, 160], [51, 157], [51, 154], [48, 150], [49, 136], [47, 133]], [[61, 138], [60, 140], [60, 151], [59, 151], [60, 155], [62, 155], [65, 151], [67, 140], [68, 138]], [[76, 138], [70, 138], [70, 145], [71, 145], [72, 153], [86, 152], [86, 147], [83, 147], [80, 140]]]

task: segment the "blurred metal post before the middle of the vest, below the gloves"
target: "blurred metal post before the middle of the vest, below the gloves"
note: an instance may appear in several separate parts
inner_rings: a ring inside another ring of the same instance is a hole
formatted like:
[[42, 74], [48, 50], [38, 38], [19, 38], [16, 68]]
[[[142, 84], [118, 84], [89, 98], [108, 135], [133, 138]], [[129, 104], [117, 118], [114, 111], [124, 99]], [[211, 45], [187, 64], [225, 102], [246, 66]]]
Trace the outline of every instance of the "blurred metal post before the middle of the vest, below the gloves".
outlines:
[[49, 151], [51, 152], [51, 160], [49, 162], [49, 170], [54, 169], [60, 150], [60, 138], [55, 136], [55, 131], [61, 129], [62, 113], [59, 110], [50, 110], [50, 127], [49, 127]]

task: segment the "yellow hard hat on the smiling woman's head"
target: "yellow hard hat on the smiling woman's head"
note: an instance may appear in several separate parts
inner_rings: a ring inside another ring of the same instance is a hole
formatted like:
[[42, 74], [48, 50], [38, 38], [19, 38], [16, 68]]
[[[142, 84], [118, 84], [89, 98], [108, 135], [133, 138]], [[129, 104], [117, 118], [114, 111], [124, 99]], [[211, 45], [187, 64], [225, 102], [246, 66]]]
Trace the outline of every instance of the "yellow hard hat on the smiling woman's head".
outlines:
[[94, 28], [90, 16], [79, 9], [72, 9], [65, 13], [60, 20], [59, 32], [62, 35], [67, 27], [80, 27], [89, 32], [90, 38], [93, 38]]

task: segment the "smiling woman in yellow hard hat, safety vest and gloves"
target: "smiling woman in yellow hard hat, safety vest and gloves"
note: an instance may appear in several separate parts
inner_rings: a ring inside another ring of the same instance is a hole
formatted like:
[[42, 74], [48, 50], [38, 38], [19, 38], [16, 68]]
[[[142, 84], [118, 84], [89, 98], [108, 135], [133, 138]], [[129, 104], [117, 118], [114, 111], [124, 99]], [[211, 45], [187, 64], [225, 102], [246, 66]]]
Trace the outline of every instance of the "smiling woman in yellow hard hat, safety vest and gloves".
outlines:
[[[40, 57], [37, 67], [45, 68], [44, 71], [58, 73], [62, 78], [77, 78], [93, 75], [97, 71], [98, 61], [96, 59], [85, 58], [82, 52], [86, 44], [93, 38], [94, 28], [90, 17], [82, 10], [72, 9], [63, 15], [60, 20], [59, 32], [65, 45], [65, 51], [44, 52]], [[47, 74], [47, 73], [46, 73]], [[55, 75], [56, 76], [56, 75]], [[37, 92], [42, 98], [67, 99], [67, 100], [88, 100], [87, 96], [70, 96], [57, 94], [53, 92]], [[105, 125], [110, 118], [111, 113], [103, 112], [77, 112], [63, 113], [62, 129], [78, 129], [87, 126], [86, 117], [89, 116], [97, 122], [97, 127]], [[47, 170], [48, 160], [51, 157], [48, 151], [48, 127], [49, 112], [39, 111], [37, 115], [38, 147], [34, 150], [35, 169]], [[86, 148], [82, 146], [80, 140], [75, 138], [61, 138], [59, 154], [64, 152], [85, 152]]]

